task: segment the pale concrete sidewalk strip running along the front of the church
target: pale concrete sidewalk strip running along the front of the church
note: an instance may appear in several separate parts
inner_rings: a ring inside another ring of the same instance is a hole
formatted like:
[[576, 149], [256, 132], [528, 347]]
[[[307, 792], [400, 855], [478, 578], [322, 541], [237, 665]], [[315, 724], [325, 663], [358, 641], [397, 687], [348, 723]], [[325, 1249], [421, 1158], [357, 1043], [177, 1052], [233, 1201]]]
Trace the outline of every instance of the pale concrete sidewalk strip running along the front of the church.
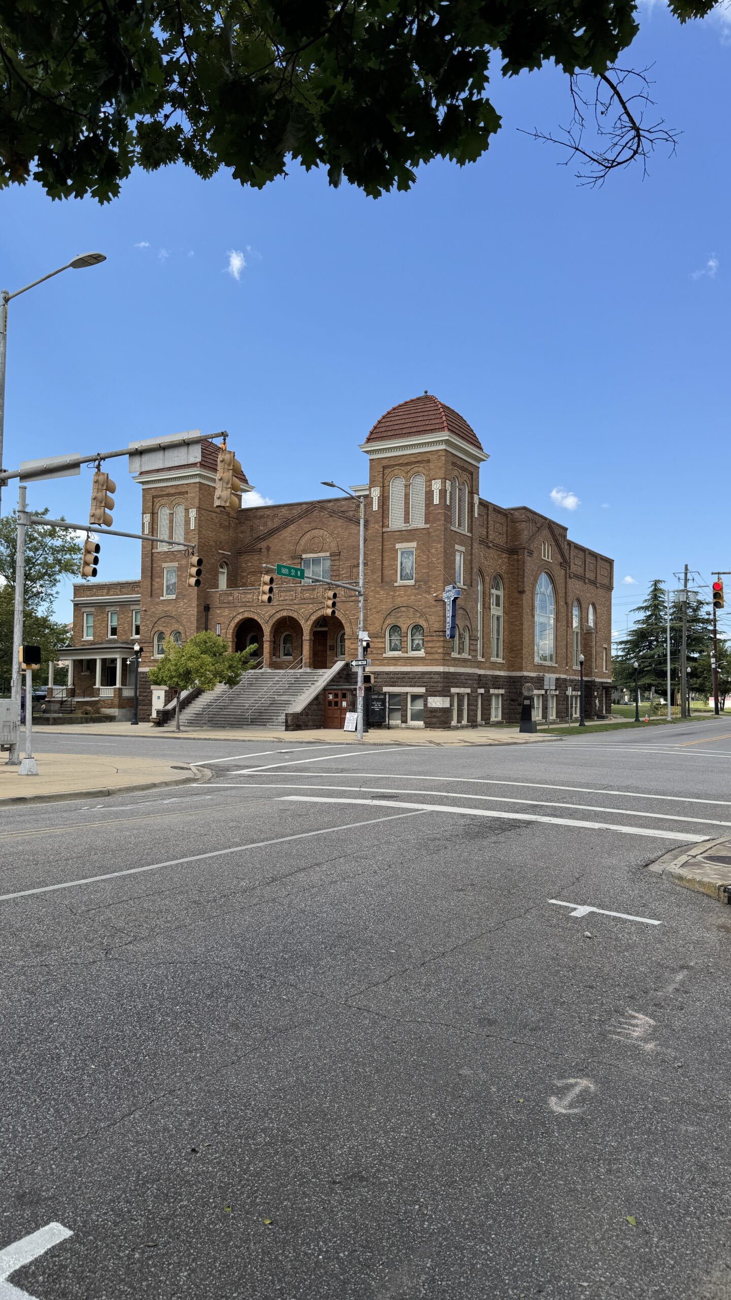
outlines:
[[[46, 729], [46, 728], [44, 728]], [[153, 727], [152, 723], [140, 723], [134, 732], [129, 723], [96, 723], [82, 727], [51, 727], [51, 736], [78, 736], [79, 732], [91, 736], [156, 736], [159, 740], [222, 740], [222, 741], [286, 741], [289, 745], [316, 742], [323, 744], [358, 744], [354, 732], [320, 728], [317, 731], [285, 732], [274, 731], [269, 727], [200, 727], [186, 728], [176, 732], [172, 727]], [[40, 728], [34, 732], [34, 738], [42, 744], [43, 732]], [[535, 736], [522, 736], [518, 727], [476, 727], [455, 728], [454, 731], [420, 731], [410, 727], [379, 728], [368, 732], [363, 737], [364, 745], [532, 745], [542, 744], [546, 740], [559, 740], [559, 737], [538, 732]]]

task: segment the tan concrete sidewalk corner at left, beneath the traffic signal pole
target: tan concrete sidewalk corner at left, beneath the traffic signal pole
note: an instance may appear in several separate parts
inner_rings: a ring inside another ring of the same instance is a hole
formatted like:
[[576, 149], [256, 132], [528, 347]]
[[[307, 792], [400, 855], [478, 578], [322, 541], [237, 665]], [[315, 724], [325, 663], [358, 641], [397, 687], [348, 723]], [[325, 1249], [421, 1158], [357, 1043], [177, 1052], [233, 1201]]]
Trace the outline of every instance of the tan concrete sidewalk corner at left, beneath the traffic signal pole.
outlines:
[[0, 762], [0, 807], [44, 800], [104, 798], [122, 790], [156, 789], [181, 781], [204, 780], [208, 774], [187, 763], [159, 758], [109, 758], [100, 754], [36, 753], [38, 776], [21, 776], [17, 767]]

